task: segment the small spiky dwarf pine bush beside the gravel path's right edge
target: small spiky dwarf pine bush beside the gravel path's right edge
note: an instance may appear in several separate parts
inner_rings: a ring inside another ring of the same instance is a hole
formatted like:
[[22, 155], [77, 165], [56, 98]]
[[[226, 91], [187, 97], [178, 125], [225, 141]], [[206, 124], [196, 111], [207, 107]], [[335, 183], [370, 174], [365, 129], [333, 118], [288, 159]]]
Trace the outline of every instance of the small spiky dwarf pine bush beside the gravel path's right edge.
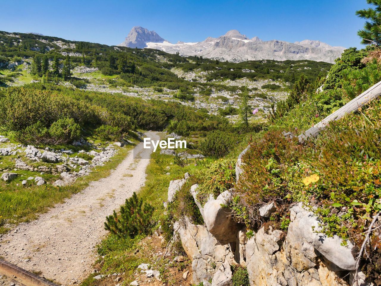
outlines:
[[139, 234], [148, 234], [153, 226], [152, 214], [154, 207], [138, 199], [134, 192], [130, 199], [126, 199], [124, 206], [120, 206], [120, 214], [114, 210], [113, 215], [106, 217], [105, 230], [117, 236], [134, 238]]

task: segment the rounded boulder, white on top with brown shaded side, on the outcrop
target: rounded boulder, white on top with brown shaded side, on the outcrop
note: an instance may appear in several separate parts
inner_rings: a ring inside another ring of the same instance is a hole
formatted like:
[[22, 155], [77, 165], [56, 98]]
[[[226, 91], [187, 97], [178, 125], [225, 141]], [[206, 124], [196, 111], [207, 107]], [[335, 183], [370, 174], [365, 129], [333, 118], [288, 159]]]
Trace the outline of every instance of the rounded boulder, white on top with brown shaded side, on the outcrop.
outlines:
[[230, 216], [231, 210], [221, 206], [226, 205], [231, 198], [231, 191], [224, 191], [217, 199], [209, 199], [203, 207], [205, 225], [221, 244], [235, 242], [240, 229]]

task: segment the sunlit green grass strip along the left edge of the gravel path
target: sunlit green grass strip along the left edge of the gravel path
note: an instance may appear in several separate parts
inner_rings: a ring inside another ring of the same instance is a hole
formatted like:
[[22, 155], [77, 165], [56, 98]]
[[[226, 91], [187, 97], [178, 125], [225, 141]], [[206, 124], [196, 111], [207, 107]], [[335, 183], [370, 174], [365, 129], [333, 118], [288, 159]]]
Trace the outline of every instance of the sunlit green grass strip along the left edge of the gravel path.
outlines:
[[[64, 199], [70, 198], [72, 194], [78, 193], [86, 188], [90, 182], [99, 180], [110, 175], [111, 170], [115, 169], [120, 162], [125, 159], [126, 154], [133, 148], [132, 145], [127, 145], [120, 148], [112, 160], [106, 162], [104, 166], [98, 166], [93, 169], [88, 176], [80, 177], [77, 181], [70, 186], [53, 187], [46, 184], [43, 186], [30, 186], [24, 187], [21, 181], [32, 176], [40, 175], [38, 172], [30, 171], [12, 171], [18, 173], [19, 176], [11, 182], [0, 182], [0, 233], [5, 233], [10, 225], [20, 222], [27, 222], [29, 220], [37, 219], [38, 214], [48, 211], [50, 207], [55, 204], [64, 202]], [[12, 166], [11, 156], [0, 157], [0, 167]], [[58, 178], [58, 175], [51, 174], [43, 175], [46, 182], [52, 182]], [[34, 181], [33, 181], [34, 183]]]

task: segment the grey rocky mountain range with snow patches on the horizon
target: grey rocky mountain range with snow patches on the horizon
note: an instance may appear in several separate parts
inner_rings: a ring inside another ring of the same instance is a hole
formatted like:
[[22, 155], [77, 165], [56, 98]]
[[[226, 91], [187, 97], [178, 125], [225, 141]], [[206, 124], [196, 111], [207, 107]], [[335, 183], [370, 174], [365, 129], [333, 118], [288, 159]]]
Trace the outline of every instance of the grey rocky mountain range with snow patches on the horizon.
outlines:
[[333, 63], [345, 50], [344, 47], [333, 47], [313, 40], [289, 43], [279, 40], [263, 41], [258, 37], [249, 39], [237, 30], [230, 30], [218, 38], [208, 37], [202, 42], [173, 44], [155, 31], [148, 31], [142, 27], [133, 27], [126, 40], [118, 46], [154, 48], [172, 54], [178, 52], [182, 56], [205, 56], [235, 63], [261, 59], [309, 59]]

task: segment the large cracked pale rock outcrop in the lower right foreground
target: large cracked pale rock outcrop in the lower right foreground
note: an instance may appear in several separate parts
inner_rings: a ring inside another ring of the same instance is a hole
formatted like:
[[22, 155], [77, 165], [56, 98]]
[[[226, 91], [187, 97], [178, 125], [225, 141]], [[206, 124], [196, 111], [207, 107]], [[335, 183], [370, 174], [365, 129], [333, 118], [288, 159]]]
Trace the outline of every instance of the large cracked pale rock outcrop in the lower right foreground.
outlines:
[[[238, 167], [247, 149], [240, 154]], [[251, 286], [343, 286], [353, 280], [354, 246], [350, 241], [342, 245], [338, 236], [319, 233], [319, 219], [302, 203], [290, 207], [287, 233], [265, 224], [248, 238], [245, 226], [233, 222], [226, 207], [232, 190], [216, 199], [210, 196], [202, 206], [197, 200], [198, 187], [192, 185], [190, 193], [205, 225], [195, 225], [188, 217], [174, 223], [174, 235], [192, 260], [193, 284], [232, 285], [231, 265], [237, 264], [247, 267]], [[259, 212], [268, 218], [276, 210], [271, 202]], [[350, 274], [352, 280], [348, 280]]]

